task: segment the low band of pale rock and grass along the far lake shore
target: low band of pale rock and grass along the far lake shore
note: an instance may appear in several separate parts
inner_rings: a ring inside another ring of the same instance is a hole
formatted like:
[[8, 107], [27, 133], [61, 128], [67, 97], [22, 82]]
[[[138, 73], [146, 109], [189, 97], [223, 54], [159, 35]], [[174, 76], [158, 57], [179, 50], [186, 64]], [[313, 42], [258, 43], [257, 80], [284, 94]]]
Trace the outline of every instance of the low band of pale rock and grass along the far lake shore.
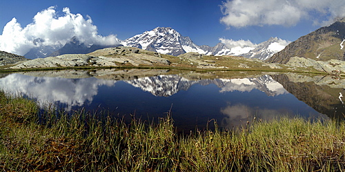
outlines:
[[0, 65], [0, 72], [66, 69], [151, 68], [195, 71], [265, 71], [315, 73], [344, 76], [344, 61], [315, 61], [293, 57], [288, 64], [235, 56], [201, 55], [188, 52], [177, 57], [132, 47], [104, 48], [88, 54], [59, 55]]

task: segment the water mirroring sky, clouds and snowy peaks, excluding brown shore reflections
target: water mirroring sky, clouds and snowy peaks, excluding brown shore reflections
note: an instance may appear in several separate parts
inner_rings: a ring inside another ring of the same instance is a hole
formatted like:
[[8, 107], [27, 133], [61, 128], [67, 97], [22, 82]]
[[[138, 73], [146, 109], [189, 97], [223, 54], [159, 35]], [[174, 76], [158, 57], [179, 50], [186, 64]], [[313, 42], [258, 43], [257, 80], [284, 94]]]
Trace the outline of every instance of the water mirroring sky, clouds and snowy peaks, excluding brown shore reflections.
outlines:
[[211, 119], [217, 120], [221, 127], [234, 128], [254, 117], [262, 120], [279, 115], [326, 117], [288, 93], [270, 75], [197, 80], [179, 75], [157, 75], [105, 80], [13, 73], [0, 79], [0, 88], [23, 93], [40, 104], [59, 104], [68, 111], [105, 109], [111, 115], [135, 114], [144, 120], [164, 117], [171, 108], [175, 125], [185, 132], [194, 131], [195, 126], [204, 128]]

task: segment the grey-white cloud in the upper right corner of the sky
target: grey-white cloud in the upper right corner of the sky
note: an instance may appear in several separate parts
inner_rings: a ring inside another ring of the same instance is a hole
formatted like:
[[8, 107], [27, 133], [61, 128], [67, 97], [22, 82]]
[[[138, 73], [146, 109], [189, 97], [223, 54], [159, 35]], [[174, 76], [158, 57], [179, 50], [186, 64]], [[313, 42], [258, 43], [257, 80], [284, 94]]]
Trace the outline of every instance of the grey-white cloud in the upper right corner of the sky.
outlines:
[[[294, 26], [301, 19], [326, 25], [337, 17], [345, 17], [344, 0], [227, 0], [221, 5], [221, 23], [245, 26]], [[326, 19], [321, 20], [320, 19]]]

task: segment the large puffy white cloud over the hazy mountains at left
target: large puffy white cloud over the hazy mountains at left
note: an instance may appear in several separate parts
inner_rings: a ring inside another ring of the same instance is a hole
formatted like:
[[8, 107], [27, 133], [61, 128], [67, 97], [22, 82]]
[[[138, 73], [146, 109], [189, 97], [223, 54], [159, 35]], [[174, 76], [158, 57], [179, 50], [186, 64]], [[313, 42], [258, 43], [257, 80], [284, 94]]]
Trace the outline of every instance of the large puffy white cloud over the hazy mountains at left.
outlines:
[[[0, 35], [0, 50], [25, 55], [35, 46], [61, 46], [74, 36], [86, 45], [119, 44], [115, 35], [99, 35], [89, 16], [84, 18], [80, 14], [72, 14], [69, 8], [63, 8], [63, 15], [59, 16], [55, 7], [50, 7], [37, 12], [32, 23], [24, 28], [16, 18], [9, 21]], [[34, 44], [34, 39], [38, 38], [42, 41]]]

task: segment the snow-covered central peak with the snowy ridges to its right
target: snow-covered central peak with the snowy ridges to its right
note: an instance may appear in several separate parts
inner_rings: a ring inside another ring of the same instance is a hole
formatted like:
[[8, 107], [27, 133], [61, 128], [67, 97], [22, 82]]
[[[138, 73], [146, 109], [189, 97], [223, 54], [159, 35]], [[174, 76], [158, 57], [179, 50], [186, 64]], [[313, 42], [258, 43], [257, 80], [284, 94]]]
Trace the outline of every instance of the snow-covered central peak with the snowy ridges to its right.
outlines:
[[172, 28], [157, 27], [124, 41], [124, 46], [151, 50], [161, 54], [181, 55], [186, 52], [198, 52], [203, 55], [235, 55], [247, 58], [268, 59], [275, 52], [282, 50], [288, 41], [271, 37], [260, 44], [229, 46], [219, 42], [214, 47], [197, 46], [190, 37], [184, 37]]

